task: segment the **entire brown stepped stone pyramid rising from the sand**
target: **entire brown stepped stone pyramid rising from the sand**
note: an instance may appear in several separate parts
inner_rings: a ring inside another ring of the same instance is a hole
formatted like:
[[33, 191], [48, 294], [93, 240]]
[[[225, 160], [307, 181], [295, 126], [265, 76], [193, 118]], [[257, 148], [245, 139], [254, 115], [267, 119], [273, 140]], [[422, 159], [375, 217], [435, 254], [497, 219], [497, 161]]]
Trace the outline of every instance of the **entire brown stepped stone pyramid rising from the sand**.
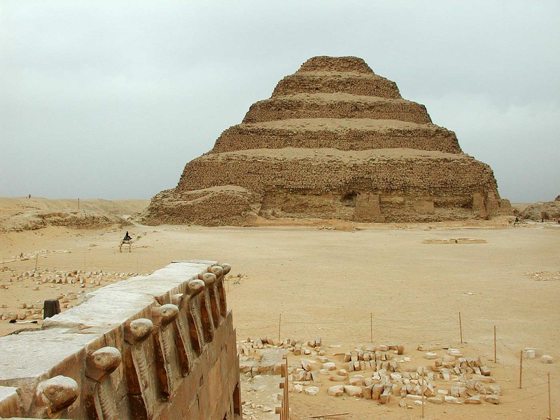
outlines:
[[357, 57], [313, 57], [251, 106], [147, 224], [253, 225], [262, 218], [428, 222], [510, 214], [488, 165]]

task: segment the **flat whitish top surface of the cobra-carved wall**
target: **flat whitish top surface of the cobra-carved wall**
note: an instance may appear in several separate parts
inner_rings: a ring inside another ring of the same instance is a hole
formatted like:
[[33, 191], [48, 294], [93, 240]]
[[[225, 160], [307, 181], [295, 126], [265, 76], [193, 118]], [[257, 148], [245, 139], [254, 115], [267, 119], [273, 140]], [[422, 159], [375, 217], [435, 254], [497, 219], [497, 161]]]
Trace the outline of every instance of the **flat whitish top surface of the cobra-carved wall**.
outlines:
[[174, 262], [149, 276], [137, 276], [87, 293], [83, 304], [48, 318], [45, 330], [0, 338], [0, 385], [36, 379], [101, 335], [155, 303], [215, 261]]

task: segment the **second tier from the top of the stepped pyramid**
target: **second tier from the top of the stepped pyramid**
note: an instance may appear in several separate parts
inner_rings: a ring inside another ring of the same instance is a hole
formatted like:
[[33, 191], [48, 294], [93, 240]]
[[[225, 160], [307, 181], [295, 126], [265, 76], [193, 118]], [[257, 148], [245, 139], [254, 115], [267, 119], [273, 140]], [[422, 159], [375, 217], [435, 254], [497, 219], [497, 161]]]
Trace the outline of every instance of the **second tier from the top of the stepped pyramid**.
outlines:
[[346, 93], [402, 99], [396, 83], [377, 74], [318, 71], [286, 76], [276, 85], [272, 97], [299, 93]]

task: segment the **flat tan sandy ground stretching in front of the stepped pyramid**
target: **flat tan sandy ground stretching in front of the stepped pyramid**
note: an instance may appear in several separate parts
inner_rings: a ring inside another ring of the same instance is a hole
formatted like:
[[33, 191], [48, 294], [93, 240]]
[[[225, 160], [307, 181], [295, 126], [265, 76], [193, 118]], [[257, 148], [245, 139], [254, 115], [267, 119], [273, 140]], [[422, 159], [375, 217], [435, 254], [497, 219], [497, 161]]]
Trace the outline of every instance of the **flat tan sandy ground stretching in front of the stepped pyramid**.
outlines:
[[[447, 344], [461, 349], [467, 357], [486, 360], [492, 377], [503, 387], [502, 402], [430, 404], [425, 407], [426, 419], [545, 419], [547, 373], [552, 381], [553, 418], [560, 416], [560, 229], [542, 224], [496, 228], [492, 223], [339, 228], [346, 229], [134, 226], [128, 229], [131, 235], [142, 238], [131, 253], [119, 253], [118, 243], [124, 232], [116, 229], [53, 227], [2, 233], [0, 304], [6, 307], [0, 314], [25, 311], [23, 303], [27, 306], [79, 295], [82, 290], [104, 286], [132, 273], [153, 272], [172, 260], [229, 262], [236, 277], [226, 286], [228, 307], [233, 309], [239, 340], [277, 338], [280, 326], [281, 337], [321, 337], [325, 346], [340, 344], [327, 353], [339, 362], [340, 357], [332, 356], [332, 352], [367, 344], [372, 333], [374, 344], [404, 344], [405, 356], [412, 358], [411, 366], [423, 360], [423, 352], [416, 351], [419, 344]], [[425, 243], [457, 238], [485, 243]], [[21, 253], [29, 259], [17, 258]], [[76, 277], [90, 277], [84, 285], [50, 280], [43, 283], [42, 277], [24, 276], [35, 267], [45, 272], [44, 277], [56, 276], [55, 270], [66, 274], [76, 270]], [[98, 286], [95, 281], [101, 272], [104, 276]], [[75, 302], [78, 300], [69, 298], [69, 305]], [[494, 325], [497, 363], [493, 363]], [[0, 321], [0, 335], [29, 326], [40, 323]], [[523, 389], [517, 389], [519, 351], [526, 346], [544, 349], [554, 357], [554, 363], [524, 360]], [[275, 378], [267, 383], [276, 384], [280, 378]], [[370, 400], [330, 398], [326, 393], [330, 385], [325, 381], [321, 393], [313, 397], [290, 394], [293, 418], [336, 412], [350, 414], [330, 418], [421, 418], [420, 407], [398, 407], [395, 399], [390, 405], [377, 405]], [[272, 395], [278, 391], [277, 386], [265, 386], [258, 393], [273, 404]], [[243, 396], [255, 400], [254, 394], [244, 391]], [[277, 417], [272, 413], [255, 414], [259, 419]]]

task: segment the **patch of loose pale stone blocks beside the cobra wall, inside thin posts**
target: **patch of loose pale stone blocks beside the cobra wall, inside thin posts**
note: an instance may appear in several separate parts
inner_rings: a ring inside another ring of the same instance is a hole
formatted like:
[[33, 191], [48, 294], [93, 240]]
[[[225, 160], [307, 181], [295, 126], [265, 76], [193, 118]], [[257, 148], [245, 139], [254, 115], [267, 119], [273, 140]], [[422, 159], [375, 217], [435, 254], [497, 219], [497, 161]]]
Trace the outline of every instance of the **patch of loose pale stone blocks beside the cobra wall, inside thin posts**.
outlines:
[[280, 374], [283, 354], [291, 353], [290, 393], [312, 396], [326, 392], [333, 398], [346, 395], [379, 404], [400, 400], [401, 407], [425, 402], [500, 402], [502, 388], [494, 382], [489, 367], [480, 357], [465, 357], [459, 349], [444, 346], [426, 351], [419, 346], [416, 350], [430, 363], [412, 365], [402, 344], [363, 344], [353, 351], [339, 352], [334, 347], [328, 349], [320, 338], [304, 342], [264, 337], [238, 342], [237, 351], [246, 377]]

